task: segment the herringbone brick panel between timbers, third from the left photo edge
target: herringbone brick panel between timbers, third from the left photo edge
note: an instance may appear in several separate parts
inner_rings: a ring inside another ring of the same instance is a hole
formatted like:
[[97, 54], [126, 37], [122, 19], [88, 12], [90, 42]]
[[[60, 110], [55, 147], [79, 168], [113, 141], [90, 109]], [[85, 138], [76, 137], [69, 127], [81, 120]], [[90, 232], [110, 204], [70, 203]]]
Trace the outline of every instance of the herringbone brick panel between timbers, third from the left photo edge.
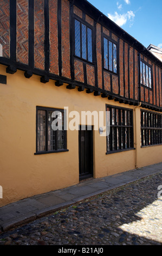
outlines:
[[44, 1], [35, 0], [35, 37], [34, 60], [35, 68], [44, 69]]

